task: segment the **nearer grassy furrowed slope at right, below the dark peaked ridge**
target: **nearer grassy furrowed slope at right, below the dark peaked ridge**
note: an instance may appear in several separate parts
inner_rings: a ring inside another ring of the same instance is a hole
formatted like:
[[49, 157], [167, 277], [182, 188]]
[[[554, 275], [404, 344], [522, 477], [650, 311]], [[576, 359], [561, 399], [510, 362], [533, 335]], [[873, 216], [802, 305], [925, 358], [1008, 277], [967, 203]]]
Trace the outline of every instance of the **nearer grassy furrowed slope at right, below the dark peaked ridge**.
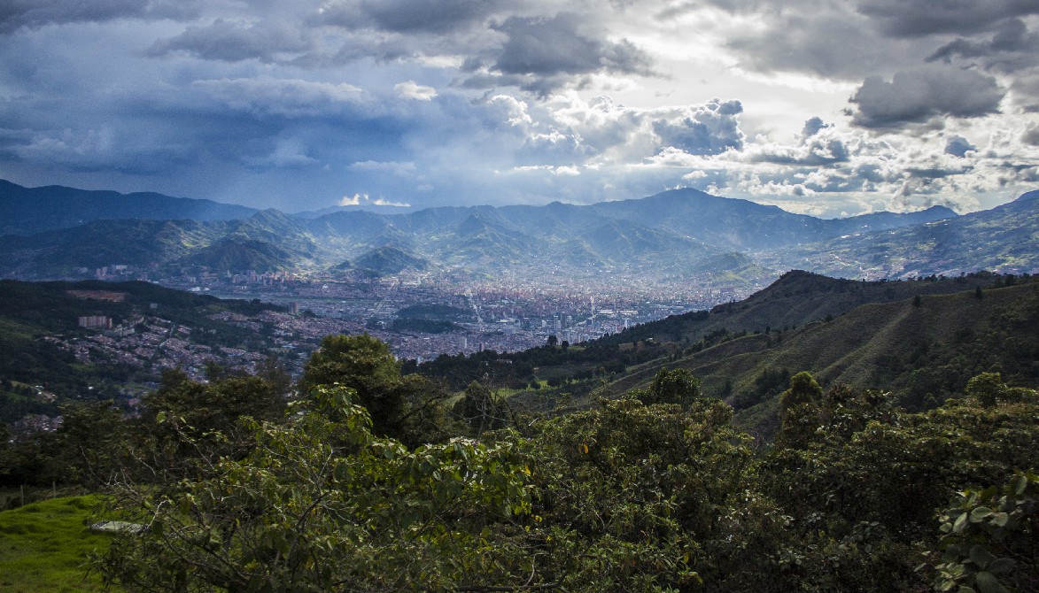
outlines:
[[707, 395], [731, 403], [748, 428], [769, 433], [773, 398], [800, 371], [812, 373], [824, 387], [846, 383], [891, 390], [915, 409], [963, 393], [967, 380], [982, 372], [997, 371], [1010, 384], [1034, 386], [1039, 383], [1036, 327], [1039, 284], [983, 290], [981, 298], [967, 291], [869, 303], [831, 321], [769, 333], [741, 331], [698, 351], [693, 345], [615, 380], [608, 392], [645, 386], [665, 367], [687, 369], [702, 379]]

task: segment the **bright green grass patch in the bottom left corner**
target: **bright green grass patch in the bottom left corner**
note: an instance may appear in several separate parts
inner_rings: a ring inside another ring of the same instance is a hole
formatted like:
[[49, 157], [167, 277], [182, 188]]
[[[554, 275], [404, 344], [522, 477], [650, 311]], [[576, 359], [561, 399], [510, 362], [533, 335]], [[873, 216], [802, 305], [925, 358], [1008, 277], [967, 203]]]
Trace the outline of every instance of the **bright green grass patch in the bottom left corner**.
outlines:
[[86, 574], [87, 555], [111, 541], [87, 529], [96, 502], [53, 498], [0, 512], [0, 593], [101, 591], [100, 577]]

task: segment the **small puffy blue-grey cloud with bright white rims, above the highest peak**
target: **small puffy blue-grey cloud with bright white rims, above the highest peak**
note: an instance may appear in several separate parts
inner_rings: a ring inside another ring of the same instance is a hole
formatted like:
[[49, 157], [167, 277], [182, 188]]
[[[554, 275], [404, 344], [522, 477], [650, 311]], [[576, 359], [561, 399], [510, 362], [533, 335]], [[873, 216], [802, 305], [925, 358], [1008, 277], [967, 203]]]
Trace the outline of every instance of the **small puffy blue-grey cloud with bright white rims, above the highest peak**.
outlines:
[[728, 149], [741, 150], [745, 140], [737, 115], [739, 101], [712, 101], [678, 120], [654, 122], [652, 130], [661, 145], [673, 146], [690, 155], [717, 155]]

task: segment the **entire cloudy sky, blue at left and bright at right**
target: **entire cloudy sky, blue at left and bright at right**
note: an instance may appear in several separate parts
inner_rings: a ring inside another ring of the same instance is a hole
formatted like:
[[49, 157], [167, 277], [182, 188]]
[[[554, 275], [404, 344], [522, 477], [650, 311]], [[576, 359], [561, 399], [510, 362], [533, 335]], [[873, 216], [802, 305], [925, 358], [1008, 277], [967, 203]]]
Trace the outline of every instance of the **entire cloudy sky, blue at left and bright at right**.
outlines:
[[1039, 1], [5, 0], [0, 179], [973, 212], [1039, 188]]

